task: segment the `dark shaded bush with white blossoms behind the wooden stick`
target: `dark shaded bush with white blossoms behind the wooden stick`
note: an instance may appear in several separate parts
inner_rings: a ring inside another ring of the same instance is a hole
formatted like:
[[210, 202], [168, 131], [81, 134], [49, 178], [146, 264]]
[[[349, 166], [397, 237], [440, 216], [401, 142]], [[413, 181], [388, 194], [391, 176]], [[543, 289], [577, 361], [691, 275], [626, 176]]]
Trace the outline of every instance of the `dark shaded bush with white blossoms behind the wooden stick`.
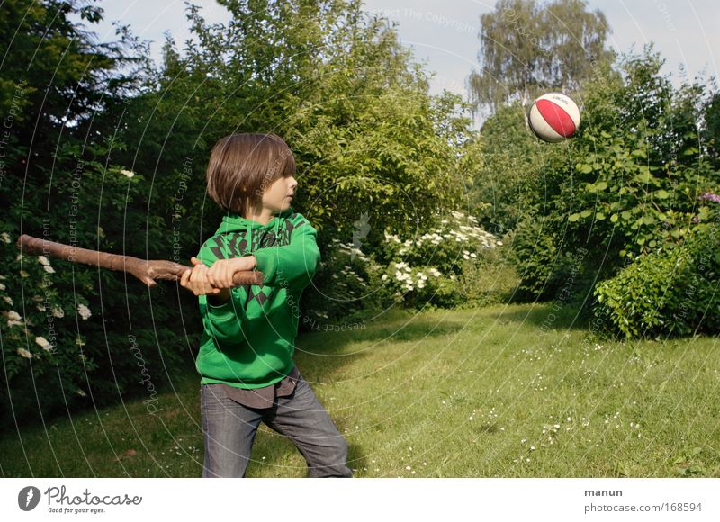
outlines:
[[[64, 153], [58, 152], [58, 162], [75, 168], [55, 172], [52, 208], [43, 214], [36, 205], [37, 212], [21, 219], [22, 207], [14, 206], [0, 217], [0, 419], [6, 424], [14, 417], [112, 404], [119, 394], [144, 397], [146, 367], [159, 387], [182, 364], [182, 311], [170, 284], [158, 285], [148, 302], [147, 287], [119, 272], [19, 253], [17, 223], [23, 223], [24, 233], [66, 245], [172, 256], [172, 223], [157, 211], [157, 199], [151, 205], [156, 214], [148, 214], [142, 175], [80, 163], [72, 149], [70, 159]], [[5, 185], [0, 195], [7, 197]], [[127, 216], [118, 220], [119, 211]], [[195, 311], [197, 300], [187, 296], [187, 302]], [[142, 368], [130, 351], [130, 334], [141, 348]]]

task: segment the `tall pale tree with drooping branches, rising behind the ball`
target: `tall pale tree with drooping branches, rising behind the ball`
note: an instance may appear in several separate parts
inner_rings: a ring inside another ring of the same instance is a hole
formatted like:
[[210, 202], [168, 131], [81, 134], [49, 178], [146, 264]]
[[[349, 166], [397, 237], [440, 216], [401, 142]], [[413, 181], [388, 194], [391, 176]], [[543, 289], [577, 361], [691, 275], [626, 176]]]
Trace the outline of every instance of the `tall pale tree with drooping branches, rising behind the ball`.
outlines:
[[609, 27], [599, 10], [584, 0], [500, 0], [481, 16], [479, 72], [468, 78], [475, 109], [519, 100], [547, 91], [573, 91], [590, 78], [605, 49]]

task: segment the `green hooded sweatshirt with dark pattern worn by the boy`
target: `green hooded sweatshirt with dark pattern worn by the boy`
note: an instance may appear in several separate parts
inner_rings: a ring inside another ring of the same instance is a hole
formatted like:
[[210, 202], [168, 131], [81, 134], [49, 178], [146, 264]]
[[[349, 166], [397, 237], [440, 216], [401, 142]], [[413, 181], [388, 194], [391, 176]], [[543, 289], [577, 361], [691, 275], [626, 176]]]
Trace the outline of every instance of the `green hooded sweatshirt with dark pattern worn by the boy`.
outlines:
[[200, 248], [206, 266], [218, 259], [254, 255], [262, 286], [230, 291], [228, 302], [212, 306], [200, 295], [204, 327], [195, 367], [202, 384], [225, 383], [244, 389], [278, 383], [293, 370], [300, 296], [320, 266], [317, 230], [293, 208], [266, 225], [238, 214]]

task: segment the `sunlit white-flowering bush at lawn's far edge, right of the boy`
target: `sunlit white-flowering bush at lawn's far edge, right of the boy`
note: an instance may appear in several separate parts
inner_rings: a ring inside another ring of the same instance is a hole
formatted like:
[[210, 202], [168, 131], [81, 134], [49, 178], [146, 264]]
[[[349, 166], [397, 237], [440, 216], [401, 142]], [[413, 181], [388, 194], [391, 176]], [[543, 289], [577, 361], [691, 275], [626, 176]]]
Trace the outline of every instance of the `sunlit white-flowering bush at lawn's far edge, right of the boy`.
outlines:
[[397, 305], [442, 308], [499, 302], [517, 284], [514, 272], [503, 268], [503, 241], [462, 212], [437, 220], [416, 238], [401, 239], [387, 231], [384, 238], [373, 252], [331, 239], [313, 279], [315, 288], [307, 293], [305, 323], [312, 327], [348, 321], [355, 313]]

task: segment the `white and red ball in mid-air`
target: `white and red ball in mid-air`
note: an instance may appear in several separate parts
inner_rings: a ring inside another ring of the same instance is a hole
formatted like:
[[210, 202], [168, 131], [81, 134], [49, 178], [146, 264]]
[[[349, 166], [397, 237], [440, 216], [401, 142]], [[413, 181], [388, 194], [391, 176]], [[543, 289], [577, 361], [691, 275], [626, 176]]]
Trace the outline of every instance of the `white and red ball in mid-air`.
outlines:
[[580, 109], [565, 94], [543, 94], [530, 107], [527, 121], [539, 139], [558, 143], [570, 138], [580, 127]]

